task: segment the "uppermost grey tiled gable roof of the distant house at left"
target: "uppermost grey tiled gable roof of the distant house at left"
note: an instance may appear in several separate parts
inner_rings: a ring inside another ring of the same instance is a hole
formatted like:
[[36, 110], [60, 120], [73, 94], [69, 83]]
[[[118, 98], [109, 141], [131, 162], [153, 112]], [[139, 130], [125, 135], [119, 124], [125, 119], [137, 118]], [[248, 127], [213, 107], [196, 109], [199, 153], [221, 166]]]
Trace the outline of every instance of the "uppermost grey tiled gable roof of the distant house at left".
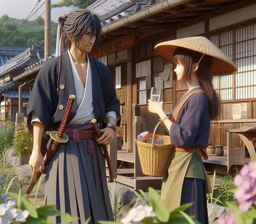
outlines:
[[43, 47], [40, 43], [36, 42], [25, 51], [9, 59], [5, 64], [0, 66], [0, 76], [14, 71], [21, 66], [34, 63], [43, 58]]

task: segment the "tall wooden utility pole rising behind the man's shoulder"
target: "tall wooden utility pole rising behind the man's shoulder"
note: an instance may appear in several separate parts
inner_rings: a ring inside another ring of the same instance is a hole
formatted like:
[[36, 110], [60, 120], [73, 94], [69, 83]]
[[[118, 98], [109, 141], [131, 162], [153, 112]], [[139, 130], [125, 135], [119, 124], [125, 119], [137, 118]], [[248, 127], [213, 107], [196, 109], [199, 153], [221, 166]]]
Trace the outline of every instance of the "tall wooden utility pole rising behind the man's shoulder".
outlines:
[[50, 0], [44, 0], [44, 58], [50, 56]]

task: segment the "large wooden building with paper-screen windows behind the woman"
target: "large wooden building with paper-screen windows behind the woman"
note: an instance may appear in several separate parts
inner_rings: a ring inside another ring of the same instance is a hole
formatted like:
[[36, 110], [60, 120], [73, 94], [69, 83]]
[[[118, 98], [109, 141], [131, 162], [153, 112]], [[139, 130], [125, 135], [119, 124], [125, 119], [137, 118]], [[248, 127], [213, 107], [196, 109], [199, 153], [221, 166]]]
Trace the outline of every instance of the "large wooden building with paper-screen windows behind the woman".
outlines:
[[[98, 3], [93, 11], [97, 12], [97, 7], [100, 11], [104, 5]], [[132, 167], [117, 170], [123, 174], [119, 175], [121, 182], [135, 188], [136, 179], [138, 187], [144, 184], [137, 178], [142, 173], [134, 139], [138, 129], [152, 131], [158, 119], [147, 109], [151, 87], [162, 87], [166, 113], [187, 91], [185, 82], [176, 81], [172, 64], [157, 56], [153, 48], [158, 42], [187, 36], [209, 38], [238, 66], [233, 74], [214, 76], [214, 87], [221, 96], [221, 114], [211, 121], [209, 136], [209, 144], [226, 145], [236, 151], [229, 158], [214, 156], [205, 163], [215, 163], [214, 169], [219, 166], [222, 173], [230, 171], [233, 164], [244, 163], [243, 141], [234, 136], [230, 142], [229, 134], [219, 127], [232, 129], [256, 122], [255, 10], [254, 0], [142, 0], [102, 21], [105, 37], [92, 55], [110, 68], [121, 102], [119, 134], [123, 150], [117, 152], [117, 160]], [[162, 72], [169, 72], [167, 81], [160, 78]], [[239, 159], [234, 154], [239, 154]], [[132, 178], [123, 180], [125, 172]], [[153, 184], [150, 178], [145, 181]]]

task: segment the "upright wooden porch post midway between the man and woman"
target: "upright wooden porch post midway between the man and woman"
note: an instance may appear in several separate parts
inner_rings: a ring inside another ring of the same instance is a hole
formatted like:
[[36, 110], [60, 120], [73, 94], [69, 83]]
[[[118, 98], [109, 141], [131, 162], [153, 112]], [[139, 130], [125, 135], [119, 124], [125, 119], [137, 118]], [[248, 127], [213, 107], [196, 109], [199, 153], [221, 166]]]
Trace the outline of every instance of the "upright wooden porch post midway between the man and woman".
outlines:
[[127, 152], [132, 152], [132, 62], [127, 62]]

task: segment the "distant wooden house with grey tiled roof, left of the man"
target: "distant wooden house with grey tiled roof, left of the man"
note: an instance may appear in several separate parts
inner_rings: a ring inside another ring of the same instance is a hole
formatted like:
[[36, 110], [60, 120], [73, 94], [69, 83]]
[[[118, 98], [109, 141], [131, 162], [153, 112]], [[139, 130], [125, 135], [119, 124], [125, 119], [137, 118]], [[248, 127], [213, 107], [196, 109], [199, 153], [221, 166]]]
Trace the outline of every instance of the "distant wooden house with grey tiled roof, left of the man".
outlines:
[[[0, 119], [15, 120], [15, 114], [20, 112], [26, 114], [25, 109], [21, 106], [18, 108], [18, 88], [20, 82], [13, 79], [16, 75], [24, 71], [24, 68], [43, 58], [43, 48], [39, 43], [35, 43], [23, 52], [9, 59], [5, 64], [0, 66]], [[20, 95], [20, 103], [26, 103], [29, 98], [29, 86], [26, 86]]]

